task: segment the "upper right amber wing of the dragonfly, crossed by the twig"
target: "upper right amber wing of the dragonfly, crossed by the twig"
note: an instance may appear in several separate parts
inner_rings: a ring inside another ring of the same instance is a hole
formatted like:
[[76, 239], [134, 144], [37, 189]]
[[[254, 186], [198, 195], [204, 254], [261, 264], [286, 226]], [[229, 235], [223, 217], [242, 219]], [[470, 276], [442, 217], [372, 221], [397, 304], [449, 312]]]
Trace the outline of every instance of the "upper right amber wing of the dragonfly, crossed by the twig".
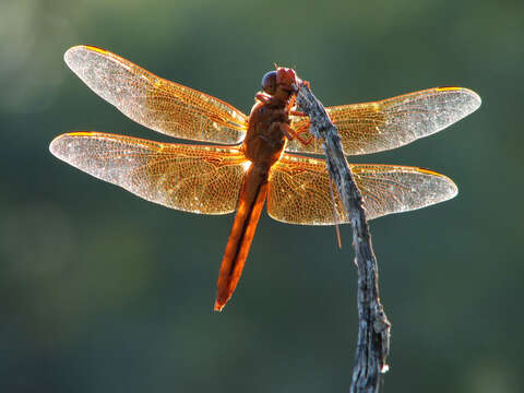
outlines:
[[[437, 87], [404, 94], [376, 103], [326, 108], [338, 129], [344, 153], [381, 152], [431, 135], [461, 120], [480, 106], [480, 97], [463, 87]], [[293, 128], [308, 140], [309, 119], [293, 117]], [[293, 140], [289, 152], [321, 154], [321, 142], [305, 145]]]

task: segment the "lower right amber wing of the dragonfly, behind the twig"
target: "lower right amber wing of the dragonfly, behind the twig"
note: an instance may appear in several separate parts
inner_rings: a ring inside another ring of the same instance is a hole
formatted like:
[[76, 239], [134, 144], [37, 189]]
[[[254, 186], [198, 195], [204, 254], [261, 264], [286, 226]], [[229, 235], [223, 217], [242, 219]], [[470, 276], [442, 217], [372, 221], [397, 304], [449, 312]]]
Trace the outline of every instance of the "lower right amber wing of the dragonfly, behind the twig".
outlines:
[[[350, 168], [368, 219], [432, 205], [457, 193], [451, 179], [427, 169], [394, 165]], [[324, 160], [284, 154], [271, 169], [267, 213], [290, 224], [334, 224], [330, 181]], [[336, 187], [334, 195], [336, 222], [347, 223]]]

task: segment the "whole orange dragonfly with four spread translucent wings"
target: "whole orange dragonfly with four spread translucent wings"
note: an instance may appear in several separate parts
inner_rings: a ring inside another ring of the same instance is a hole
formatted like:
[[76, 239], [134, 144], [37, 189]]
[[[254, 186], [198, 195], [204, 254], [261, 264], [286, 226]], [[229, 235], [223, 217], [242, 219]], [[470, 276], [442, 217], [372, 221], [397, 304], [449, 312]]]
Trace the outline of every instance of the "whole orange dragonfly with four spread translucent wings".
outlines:
[[[298, 225], [348, 223], [322, 158], [309, 134], [309, 118], [295, 108], [302, 82], [276, 67], [262, 79], [249, 116], [231, 105], [162, 79], [108, 50], [75, 46], [69, 68], [97, 95], [138, 123], [202, 144], [160, 143], [100, 132], [70, 132], [50, 152], [70, 165], [120, 186], [144, 200], [199, 214], [237, 212], [217, 281], [219, 311], [240, 279], [266, 202], [276, 221]], [[346, 155], [408, 144], [458, 121], [480, 97], [448, 86], [378, 102], [326, 108]], [[298, 153], [298, 154], [297, 154]], [[368, 219], [413, 211], [456, 195], [436, 171], [398, 165], [352, 164]]]

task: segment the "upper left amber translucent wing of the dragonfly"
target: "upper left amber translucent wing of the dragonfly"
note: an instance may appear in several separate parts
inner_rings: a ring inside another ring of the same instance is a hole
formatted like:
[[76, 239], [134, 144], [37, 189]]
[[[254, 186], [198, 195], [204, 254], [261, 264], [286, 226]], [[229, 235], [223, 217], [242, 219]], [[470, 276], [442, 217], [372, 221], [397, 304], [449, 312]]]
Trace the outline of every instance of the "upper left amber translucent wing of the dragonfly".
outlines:
[[96, 94], [152, 130], [212, 143], [234, 144], [243, 139], [246, 115], [207, 94], [166, 81], [96, 47], [73, 47], [64, 60]]

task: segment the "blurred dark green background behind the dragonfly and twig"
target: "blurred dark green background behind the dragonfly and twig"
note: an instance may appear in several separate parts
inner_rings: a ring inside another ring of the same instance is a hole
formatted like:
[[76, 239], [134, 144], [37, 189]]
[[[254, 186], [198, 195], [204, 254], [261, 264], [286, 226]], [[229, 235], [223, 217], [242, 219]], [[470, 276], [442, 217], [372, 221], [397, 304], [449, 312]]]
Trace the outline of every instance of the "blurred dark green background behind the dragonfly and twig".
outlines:
[[[110, 49], [248, 112], [273, 62], [326, 105], [439, 85], [481, 108], [352, 162], [446, 174], [452, 201], [371, 223], [393, 323], [384, 392], [524, 390], [524, 2], [17, 0], [0, 3], [0, 391], [345, 392], [356, 270], [331, 227], [264, 213], [243, 277], [212, 311], [229, 216], [142, 201], [56, 159], [73, 130], [168, 138], [62, 60]], [[521, 119], [521, 120], [520, 120]]]

